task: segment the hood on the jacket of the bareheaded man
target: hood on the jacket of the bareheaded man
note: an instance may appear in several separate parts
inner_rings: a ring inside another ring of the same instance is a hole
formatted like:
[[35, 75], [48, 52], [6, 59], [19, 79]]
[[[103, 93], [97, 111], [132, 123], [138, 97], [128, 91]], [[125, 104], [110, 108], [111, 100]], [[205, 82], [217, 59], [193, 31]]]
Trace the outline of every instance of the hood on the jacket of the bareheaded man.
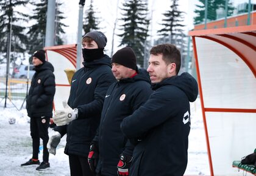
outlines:
[[166, 78], [160, 83], [152, 85], [152, 89], [158, 89], [159, 87], [172, 85], [181, 89], [188, 96], [188, 100], [193, 102], [196, 100], [198, 95], [198, 86], [197, 81], [191, 76], [189, 73], [182, 73], [180, 76], [171, 76], [170, 78]]

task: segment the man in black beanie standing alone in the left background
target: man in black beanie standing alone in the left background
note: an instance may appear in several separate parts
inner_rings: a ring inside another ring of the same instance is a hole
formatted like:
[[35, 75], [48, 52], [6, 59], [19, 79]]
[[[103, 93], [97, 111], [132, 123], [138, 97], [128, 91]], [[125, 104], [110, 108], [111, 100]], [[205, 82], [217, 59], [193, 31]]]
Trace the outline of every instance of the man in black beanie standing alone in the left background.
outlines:
[[49, 136], [48, 127], [52, 117], [52, 106], [55, 94], [54, 67], [45, 60], [45, 51], [38, 50], [33, 54], [32, 63], [35, 68], [35, 75], [31, 80], [29, 95], [27, 96], [27, 115], [30, 117], [30, 135], [32, 137], [33, 156], [21, 166], [40, 164], [38, 160], [38, 149], [40, 138], [43, 140], [43, 162], [37, 170], [50, 167], [49, 152], [46, 147]]

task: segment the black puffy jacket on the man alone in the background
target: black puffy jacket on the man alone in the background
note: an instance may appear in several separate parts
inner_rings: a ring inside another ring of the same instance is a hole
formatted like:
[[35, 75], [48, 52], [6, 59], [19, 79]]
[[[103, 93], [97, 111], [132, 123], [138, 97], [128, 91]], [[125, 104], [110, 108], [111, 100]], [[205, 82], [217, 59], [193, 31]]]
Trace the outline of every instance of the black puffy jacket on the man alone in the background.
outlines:
[[45, 62], [34, 68], [29, 95], [27, 95], [27, 115], [29, 117], [52, 117], [52, 106], [55, 94], [54, 67]]

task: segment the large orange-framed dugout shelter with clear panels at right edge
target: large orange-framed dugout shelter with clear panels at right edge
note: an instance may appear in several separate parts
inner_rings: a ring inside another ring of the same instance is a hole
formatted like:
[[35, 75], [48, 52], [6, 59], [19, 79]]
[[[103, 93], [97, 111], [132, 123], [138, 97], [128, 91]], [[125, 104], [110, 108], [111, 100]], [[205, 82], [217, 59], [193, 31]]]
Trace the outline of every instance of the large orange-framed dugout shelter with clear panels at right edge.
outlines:
[[210, 174], [237, 175], [232, 162], [256, 148], [256, 25], [195, 30], [189, 35]]

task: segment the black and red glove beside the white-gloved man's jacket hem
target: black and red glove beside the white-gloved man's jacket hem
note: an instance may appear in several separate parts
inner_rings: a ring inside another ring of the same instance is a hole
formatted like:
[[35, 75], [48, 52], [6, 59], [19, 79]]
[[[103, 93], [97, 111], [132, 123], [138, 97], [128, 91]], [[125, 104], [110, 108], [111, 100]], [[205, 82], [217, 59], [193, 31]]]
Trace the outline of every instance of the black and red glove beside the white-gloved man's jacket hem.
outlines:
[[88, 164], [92, 172], [95, 173], [96, 166], [99, 161], [99, 148], [98, 143], [92, 143], [88, 155]]

